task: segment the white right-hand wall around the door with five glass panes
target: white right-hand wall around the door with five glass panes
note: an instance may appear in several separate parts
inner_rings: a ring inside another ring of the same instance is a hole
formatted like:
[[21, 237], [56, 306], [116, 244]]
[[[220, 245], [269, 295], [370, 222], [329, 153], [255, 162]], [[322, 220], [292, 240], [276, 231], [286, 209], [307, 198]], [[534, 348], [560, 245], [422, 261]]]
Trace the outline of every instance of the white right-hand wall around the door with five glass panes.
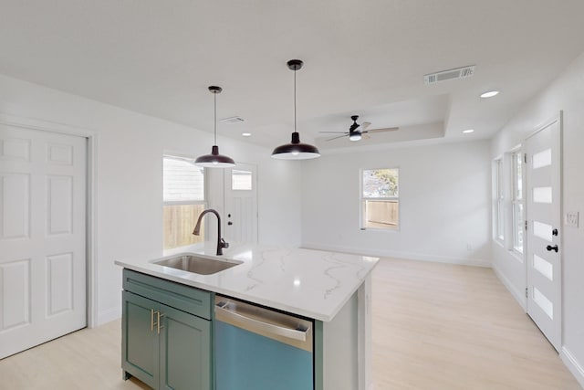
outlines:
[[[584, 386], [584, 54], [541, 91], [498, 132], [491, 156], [505, 153], [542, 124], [563, 111], [563, 212], [578, 211], [579, 227], [560, 227], [562, 234], [563, 335], [560, 353], [570, 371]], [[525, 265], [498, 244], [493, 244], [495, 271], [509, 290], [526, 287]], [[525, 298], [518, 298], [525, 306]]]

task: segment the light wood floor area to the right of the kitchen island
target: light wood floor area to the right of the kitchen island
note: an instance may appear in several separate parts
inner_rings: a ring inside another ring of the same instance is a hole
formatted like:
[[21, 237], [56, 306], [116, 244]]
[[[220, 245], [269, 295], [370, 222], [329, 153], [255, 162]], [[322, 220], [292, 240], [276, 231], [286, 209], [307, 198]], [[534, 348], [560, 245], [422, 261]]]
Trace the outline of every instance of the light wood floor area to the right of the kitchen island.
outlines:
[[380, 263], [372, 302], [376, 389], [580, 389], [492, 269]]

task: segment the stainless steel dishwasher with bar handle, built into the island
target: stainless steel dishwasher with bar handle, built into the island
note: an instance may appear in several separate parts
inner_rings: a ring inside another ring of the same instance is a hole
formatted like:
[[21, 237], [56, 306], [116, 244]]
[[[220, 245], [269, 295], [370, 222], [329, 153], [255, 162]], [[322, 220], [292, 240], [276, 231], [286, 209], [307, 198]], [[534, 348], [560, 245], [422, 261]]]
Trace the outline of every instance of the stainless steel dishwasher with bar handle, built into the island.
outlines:
[[216, 390], [312, 390], [313, 323], [215, 297]]

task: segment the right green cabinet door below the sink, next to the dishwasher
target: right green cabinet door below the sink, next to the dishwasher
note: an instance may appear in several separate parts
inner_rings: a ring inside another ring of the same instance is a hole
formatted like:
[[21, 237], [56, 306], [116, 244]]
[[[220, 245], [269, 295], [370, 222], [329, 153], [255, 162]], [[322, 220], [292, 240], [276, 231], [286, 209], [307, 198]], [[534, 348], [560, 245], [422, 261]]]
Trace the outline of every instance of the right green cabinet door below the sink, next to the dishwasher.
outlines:
[[161, 389], [211, 390], [211, 321], [162, 305]]

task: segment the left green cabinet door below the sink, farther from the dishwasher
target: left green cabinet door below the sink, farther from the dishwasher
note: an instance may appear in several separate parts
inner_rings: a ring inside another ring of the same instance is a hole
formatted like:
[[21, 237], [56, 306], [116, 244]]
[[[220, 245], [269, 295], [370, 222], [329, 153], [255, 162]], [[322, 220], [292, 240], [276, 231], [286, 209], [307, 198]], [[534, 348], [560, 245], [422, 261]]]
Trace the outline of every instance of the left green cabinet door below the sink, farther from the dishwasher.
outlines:
[[128, 291], [122, 292], [121, 367], [124, 376], [137, 377], [158, 388], [159, 335], [153, 326], [161, 304]]

